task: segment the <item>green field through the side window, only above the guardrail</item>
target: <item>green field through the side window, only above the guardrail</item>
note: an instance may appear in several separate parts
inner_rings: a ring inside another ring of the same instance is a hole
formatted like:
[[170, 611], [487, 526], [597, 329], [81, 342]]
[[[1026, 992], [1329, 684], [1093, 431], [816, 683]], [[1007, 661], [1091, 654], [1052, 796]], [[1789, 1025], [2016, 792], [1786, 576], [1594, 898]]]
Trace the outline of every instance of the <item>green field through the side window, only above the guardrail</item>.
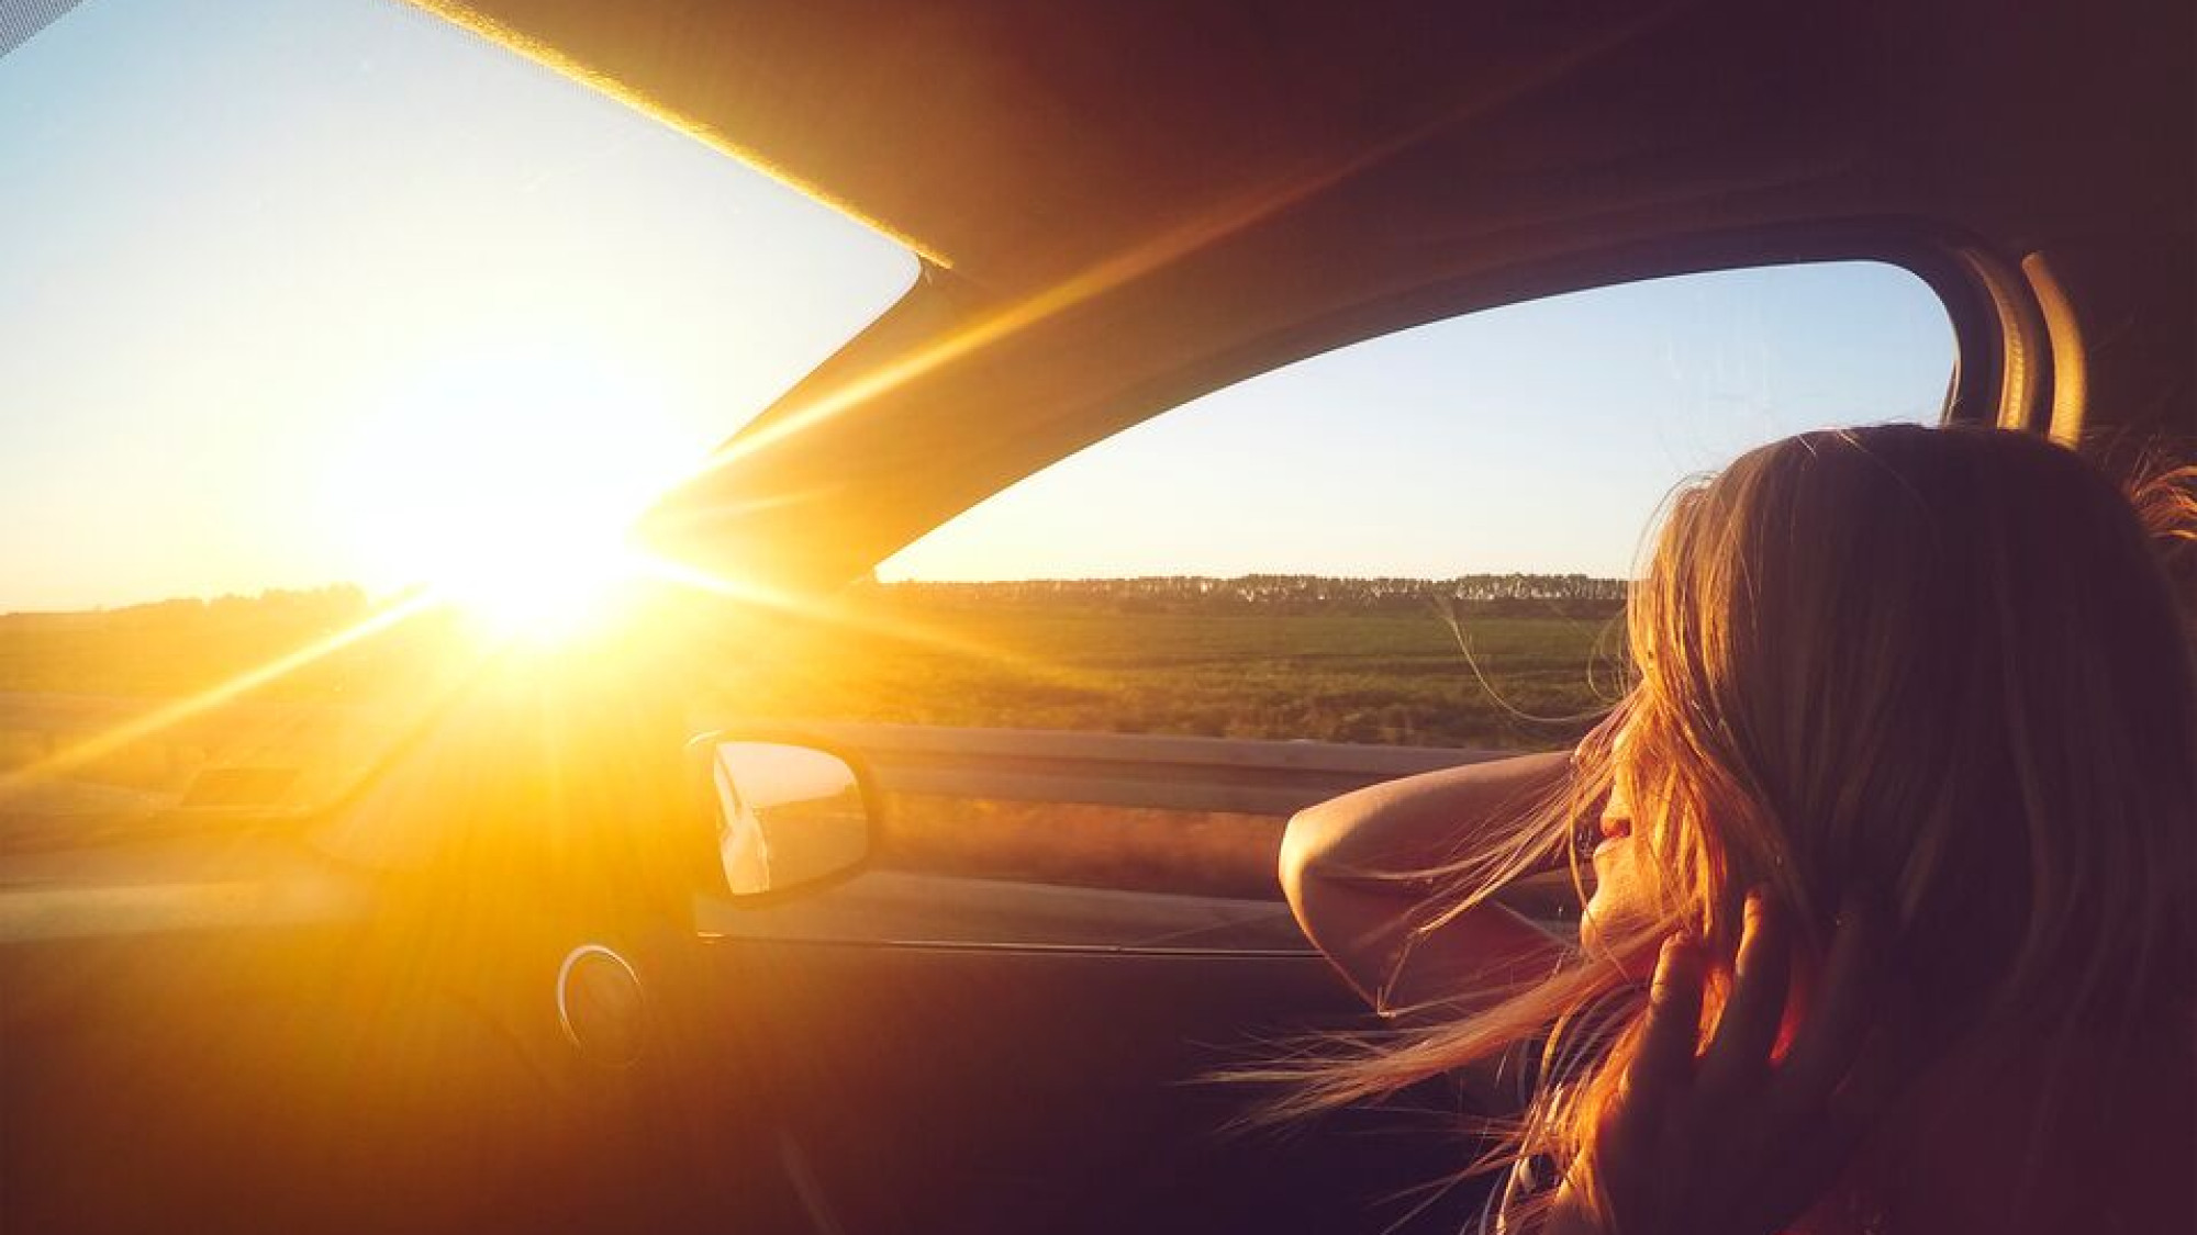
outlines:
[[1615, 699], [1621, 677], [1615, 611], [1463, 607], [1470, 661], [1430, 607], [1140, 613], [896, 602], [877, 613], [910, 635], [767, 639], [756, 657], [725, 666], [723, 705], [923, 725], [1540, 747], [1584, 732], [1584, 716]]

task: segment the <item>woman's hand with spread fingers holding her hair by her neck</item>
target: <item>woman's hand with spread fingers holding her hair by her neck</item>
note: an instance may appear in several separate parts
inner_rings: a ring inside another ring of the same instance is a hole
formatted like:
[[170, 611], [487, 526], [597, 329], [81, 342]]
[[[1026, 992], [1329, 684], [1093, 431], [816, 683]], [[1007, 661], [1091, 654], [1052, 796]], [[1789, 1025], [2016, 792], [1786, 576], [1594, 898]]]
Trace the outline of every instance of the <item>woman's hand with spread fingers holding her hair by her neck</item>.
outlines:
[[1566, 1184], [1547, 1233], [1773, 1235], [1821, 1200], [1881, 1105], [1881, 1086], [1856, 1075], [1885, 993], [1872, 925], [1856, 908], [1841, 914], [1815, 1006], [1775, 1061], [1784, 919], [1747, 899], [1731, 998], [1700, 1055], [1705, 963], [1696, 945], [1665, 943], [1639, 1055], [1588, 1149], [1602, 1222]]

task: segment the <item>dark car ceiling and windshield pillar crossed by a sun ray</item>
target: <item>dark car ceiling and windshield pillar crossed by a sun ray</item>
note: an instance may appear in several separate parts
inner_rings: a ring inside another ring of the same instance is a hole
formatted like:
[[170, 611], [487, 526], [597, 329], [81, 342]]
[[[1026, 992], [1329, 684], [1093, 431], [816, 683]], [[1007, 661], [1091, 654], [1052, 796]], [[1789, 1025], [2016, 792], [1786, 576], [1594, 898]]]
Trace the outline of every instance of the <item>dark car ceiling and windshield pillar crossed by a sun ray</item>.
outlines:
[[659, 508], [718, 567], [837, 582], [1241, 376], [1733, 264], [1916, 268], [1955, 415], [2188, 420], [2177, 0], [422, 2], [925, 257]]

